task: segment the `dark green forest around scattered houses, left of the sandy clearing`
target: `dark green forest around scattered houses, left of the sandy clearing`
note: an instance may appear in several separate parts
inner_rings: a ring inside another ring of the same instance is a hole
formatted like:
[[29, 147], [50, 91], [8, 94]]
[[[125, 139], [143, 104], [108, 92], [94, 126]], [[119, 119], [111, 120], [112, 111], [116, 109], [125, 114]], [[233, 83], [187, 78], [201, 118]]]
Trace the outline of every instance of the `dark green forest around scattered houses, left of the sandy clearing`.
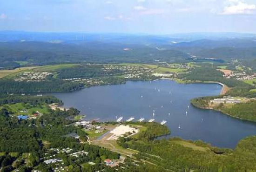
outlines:
[[[86, 132], [73, 125], [68, 125], [71, 121], [66, 119], [68, 116], [77, 114], [79, 114], [79, 111], [71, 108], [67, 111], [52, 111], [38, 119], [18, 120], [15, 117], [10, 117], [6, 109], [1, 109], [0, 152], [7, 152], [4, 155], [0, 155], [0, 168], [2, 167], [2, 171], [5, 169], [4, 172], [9, 172], [13, 170], [14, 166], [16, 169], [26, 168], [28, 171], [32, 168], [39, 170], [48, 169], [39, 158], [45, 156], [45, 153], [50, 148], [70, 147], [74, 150], [88, 151], [88, 156], [81, 157], [78, 161], [67, 157], [66, 154], [59, 155], [66, 165], [72, 165], [74, 169], [79, 168], [79, 170], [81, 169], [81, 163], [84, 162], [96, 161], [100, 163], [103, 158], [118, 159], [120, 155], [115, 152], [98, 146], [80, 143], [80, 140], [87, 140], [87, 137], [85, 137]], [[73, 132], [80, 136], [80, 140], [72, 137], [63, 137]], [[22, 161], [19, 165], [12, 165], [18, 159], [10, 157], [8, 152], [17, 152], [20, 155], [30, 152], [31, 157], [27, 163]], [[94, 168], [104, 167], [97, 165]]]

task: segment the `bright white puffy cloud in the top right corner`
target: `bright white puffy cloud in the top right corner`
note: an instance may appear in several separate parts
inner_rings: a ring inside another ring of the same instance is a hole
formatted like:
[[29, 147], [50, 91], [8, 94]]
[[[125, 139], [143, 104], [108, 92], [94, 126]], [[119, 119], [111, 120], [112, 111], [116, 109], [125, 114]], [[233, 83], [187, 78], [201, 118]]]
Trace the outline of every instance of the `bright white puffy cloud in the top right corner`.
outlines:
[[255, 4], [247, 4], [241, 0], [229, 0], [230, 6], [225, 7], [221, 14], [252, 14], [256, 10]]

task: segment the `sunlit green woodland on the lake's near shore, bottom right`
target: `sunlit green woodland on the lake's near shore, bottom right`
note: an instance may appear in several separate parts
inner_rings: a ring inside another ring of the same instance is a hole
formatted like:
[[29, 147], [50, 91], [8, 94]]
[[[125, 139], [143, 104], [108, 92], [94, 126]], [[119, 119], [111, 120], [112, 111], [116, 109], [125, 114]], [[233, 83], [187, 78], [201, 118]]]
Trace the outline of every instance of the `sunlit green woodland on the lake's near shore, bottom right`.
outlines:
[[230, 150], [179, 138], [152, 140], [148, 139], [150, 132], [151, 129], [141, 137], [120, 138], [118, 144], [140, 151], [135, 155], [137, 159], [174, 172], [256, 172], [255, 136], [241, 140], [235, 150]]

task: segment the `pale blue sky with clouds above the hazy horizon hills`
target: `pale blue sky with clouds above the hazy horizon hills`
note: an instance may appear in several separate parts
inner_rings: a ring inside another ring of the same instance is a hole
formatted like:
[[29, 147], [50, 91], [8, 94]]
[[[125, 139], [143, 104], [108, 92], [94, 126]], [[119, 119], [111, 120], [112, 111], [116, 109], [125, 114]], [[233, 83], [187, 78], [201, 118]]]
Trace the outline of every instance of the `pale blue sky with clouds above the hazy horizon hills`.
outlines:
[[256, 33], [256, 0], [0, 0], [0, 30]]

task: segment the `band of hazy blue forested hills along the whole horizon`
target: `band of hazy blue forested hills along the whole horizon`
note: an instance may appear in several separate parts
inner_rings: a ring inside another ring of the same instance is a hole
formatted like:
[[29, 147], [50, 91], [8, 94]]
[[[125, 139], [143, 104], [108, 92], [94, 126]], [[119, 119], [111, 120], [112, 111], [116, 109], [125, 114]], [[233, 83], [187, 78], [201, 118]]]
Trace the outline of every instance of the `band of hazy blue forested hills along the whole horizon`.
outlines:
[[222, 35], [227, 37], [5, 31], [0, 32], [0, 68], [65, 62], [173, 63], [190, 62], [191, 57], [225, 61], [256, 58], [254, 35]]

